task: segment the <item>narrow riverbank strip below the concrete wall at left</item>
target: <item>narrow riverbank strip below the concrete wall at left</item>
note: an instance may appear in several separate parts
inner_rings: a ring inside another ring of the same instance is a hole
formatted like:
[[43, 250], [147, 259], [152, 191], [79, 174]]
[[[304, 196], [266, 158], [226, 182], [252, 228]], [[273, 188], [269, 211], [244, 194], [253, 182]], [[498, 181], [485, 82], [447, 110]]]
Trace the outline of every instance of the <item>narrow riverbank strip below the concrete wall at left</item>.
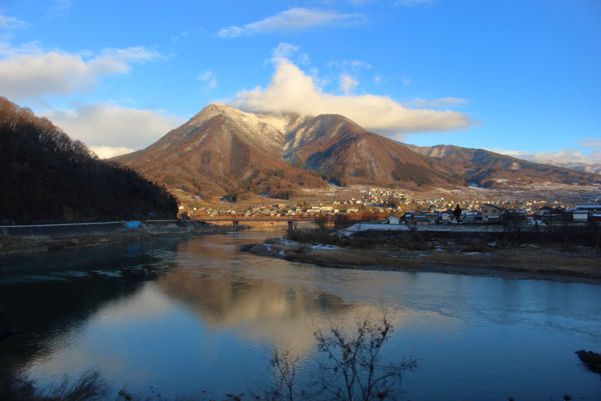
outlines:
[[[248, 228], [240, 226], [239, 230]], [[137, 242], [141, 240], [224, 234], [234, 231], [231, 226], [206, 222], [167, 221], [150, 222], [135, 228], [124, 228], [101, 234], [54, 235], [50, 238], [0, 235], [0, 257], [15, 253], [58, 251], [60, 249], [90, 248], [113, 243]]]

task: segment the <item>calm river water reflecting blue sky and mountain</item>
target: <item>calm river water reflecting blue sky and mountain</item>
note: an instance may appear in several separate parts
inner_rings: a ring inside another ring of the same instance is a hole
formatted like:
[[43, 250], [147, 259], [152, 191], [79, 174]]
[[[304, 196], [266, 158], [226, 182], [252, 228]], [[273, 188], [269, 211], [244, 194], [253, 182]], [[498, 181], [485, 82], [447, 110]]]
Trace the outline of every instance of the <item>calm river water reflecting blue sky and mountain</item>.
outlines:
[[1, 257], [0, 305], [23, 331], [4, 349], [40, 385], [96, 367], [115, 391], [221, 399], [270, 384], [274, 344], [301, 356], [304, 375], [320, 358], [316, 329], [351, 330], [385, 305], [395, 328], [386, 359], [418, 360], [406, 399], [601, 400], [599, 375], [574, 354], [601, 352], [601, 286], [239, 251], [279, 228]]

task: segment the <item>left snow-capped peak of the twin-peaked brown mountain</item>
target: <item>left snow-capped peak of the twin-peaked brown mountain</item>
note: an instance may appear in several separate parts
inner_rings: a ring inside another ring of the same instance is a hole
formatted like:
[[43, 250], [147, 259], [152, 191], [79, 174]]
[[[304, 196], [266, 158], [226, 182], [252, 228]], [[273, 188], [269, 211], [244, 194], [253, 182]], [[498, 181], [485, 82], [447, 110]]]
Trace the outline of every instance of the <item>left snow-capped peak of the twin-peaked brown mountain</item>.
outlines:
[[306, 118], [210, 104], [149, 147], [112, 160], [205, 199], [244, 191], [287, 198], [301, 186], [326, 185], [281, 158], [284, 132]]

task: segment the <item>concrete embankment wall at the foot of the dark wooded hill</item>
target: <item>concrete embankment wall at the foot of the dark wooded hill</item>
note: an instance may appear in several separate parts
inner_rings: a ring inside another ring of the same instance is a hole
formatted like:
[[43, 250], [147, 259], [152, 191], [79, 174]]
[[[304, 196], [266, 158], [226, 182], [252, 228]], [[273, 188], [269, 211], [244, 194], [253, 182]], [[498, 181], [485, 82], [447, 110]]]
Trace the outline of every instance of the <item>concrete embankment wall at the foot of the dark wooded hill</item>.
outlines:
[[103, 223], [8, 225], [0, 227], [0, 234], [31, 239], [52, 239], [86, 235], [117, 234], [128, 230], [149, 233], [186, 233], [206, 224], [194, 221], [113, 221]]

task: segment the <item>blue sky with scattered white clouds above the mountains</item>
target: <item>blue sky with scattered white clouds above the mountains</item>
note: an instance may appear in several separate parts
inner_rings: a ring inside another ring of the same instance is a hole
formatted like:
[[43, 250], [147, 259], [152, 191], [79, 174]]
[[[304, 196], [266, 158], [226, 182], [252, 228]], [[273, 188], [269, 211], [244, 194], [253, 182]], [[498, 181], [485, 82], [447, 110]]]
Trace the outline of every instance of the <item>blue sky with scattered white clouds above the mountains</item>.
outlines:
[[210, 102], [601, 162], [601, 2], [8, 0], [0, 94], [100, 156]]

